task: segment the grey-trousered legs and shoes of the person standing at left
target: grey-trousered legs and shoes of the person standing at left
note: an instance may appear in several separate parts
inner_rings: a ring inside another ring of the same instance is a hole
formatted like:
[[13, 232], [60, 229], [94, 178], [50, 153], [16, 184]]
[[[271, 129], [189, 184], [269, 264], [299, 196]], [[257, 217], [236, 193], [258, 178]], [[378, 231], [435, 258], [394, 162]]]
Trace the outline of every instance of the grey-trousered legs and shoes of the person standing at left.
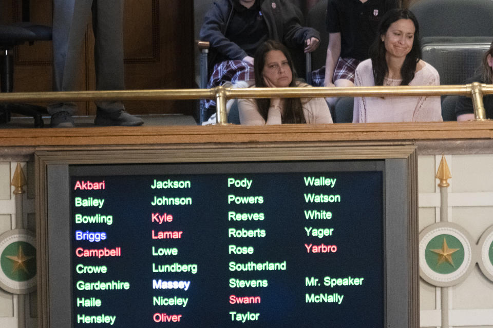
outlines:
[[[74, 91], [87, 23], [92, 12], [97, 90], [123, 90], [123, 0], [53, 1], [53, 91]], [[122, 101], [97, 101], [99, 126], [139, 126], [143, 120], [128, 114]], [[71, 128], [74, 103], [48, 106], [51, 127]]]

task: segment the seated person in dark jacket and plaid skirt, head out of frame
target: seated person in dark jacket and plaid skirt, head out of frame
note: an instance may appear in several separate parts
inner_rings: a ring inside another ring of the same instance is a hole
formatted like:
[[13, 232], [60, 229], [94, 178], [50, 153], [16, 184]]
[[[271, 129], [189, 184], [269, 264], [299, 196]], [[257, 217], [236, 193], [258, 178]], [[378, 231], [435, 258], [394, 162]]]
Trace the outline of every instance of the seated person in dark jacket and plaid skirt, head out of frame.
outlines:
[[[302, 20], [300, 10], [289, 0], [214, 1], [200, 29], [200, 39], [211, 44], [207, 88], [226, 83], [238, 88], [253, 85], [254, 54], [268, 39], [288, 47], [304, 46], [305, 52], [317, 49], [320, 33], [301, 26]], [[207, 124], [215, 122], [216, 101], [207, 99], [204, 105], [207, 116], [212, 114]]]

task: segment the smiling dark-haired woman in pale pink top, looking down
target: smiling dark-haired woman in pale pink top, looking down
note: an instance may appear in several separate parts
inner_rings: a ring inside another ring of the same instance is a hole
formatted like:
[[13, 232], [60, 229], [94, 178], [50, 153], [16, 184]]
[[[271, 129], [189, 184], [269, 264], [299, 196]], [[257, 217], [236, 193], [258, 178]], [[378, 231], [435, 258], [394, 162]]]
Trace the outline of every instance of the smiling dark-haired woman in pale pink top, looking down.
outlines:
[[[356, 68], [355, 86], [431, 86], [437, 70], [421, 60], [419, 25], [408, 9], [392, 9], [381, 20], [370, 59]], [[353, 123], [442, 121], [440, 97], [356, 97]]]

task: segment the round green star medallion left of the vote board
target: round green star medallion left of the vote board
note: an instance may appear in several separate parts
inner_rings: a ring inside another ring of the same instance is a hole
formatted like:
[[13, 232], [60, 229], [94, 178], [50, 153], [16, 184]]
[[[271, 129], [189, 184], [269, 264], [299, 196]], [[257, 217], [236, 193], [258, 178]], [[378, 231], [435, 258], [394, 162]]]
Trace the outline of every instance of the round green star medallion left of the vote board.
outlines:
[[0, 235], [0, 288], [13, 294], [33, 291], [36, 284], [34, 235], [15, 229]]

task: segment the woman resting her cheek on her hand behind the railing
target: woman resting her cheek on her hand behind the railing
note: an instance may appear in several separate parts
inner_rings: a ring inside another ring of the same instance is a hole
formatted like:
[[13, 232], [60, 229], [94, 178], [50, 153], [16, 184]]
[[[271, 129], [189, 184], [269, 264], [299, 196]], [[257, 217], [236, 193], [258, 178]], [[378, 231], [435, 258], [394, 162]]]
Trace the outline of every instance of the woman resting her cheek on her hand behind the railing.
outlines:
[[[255, 86], [259, 88], [309, 87], [296, 81], [293, 60], [281, 43], [267, 40], [255, 52]], [[332, 123], [324, 98], [239, 99], [243, 125]]]

